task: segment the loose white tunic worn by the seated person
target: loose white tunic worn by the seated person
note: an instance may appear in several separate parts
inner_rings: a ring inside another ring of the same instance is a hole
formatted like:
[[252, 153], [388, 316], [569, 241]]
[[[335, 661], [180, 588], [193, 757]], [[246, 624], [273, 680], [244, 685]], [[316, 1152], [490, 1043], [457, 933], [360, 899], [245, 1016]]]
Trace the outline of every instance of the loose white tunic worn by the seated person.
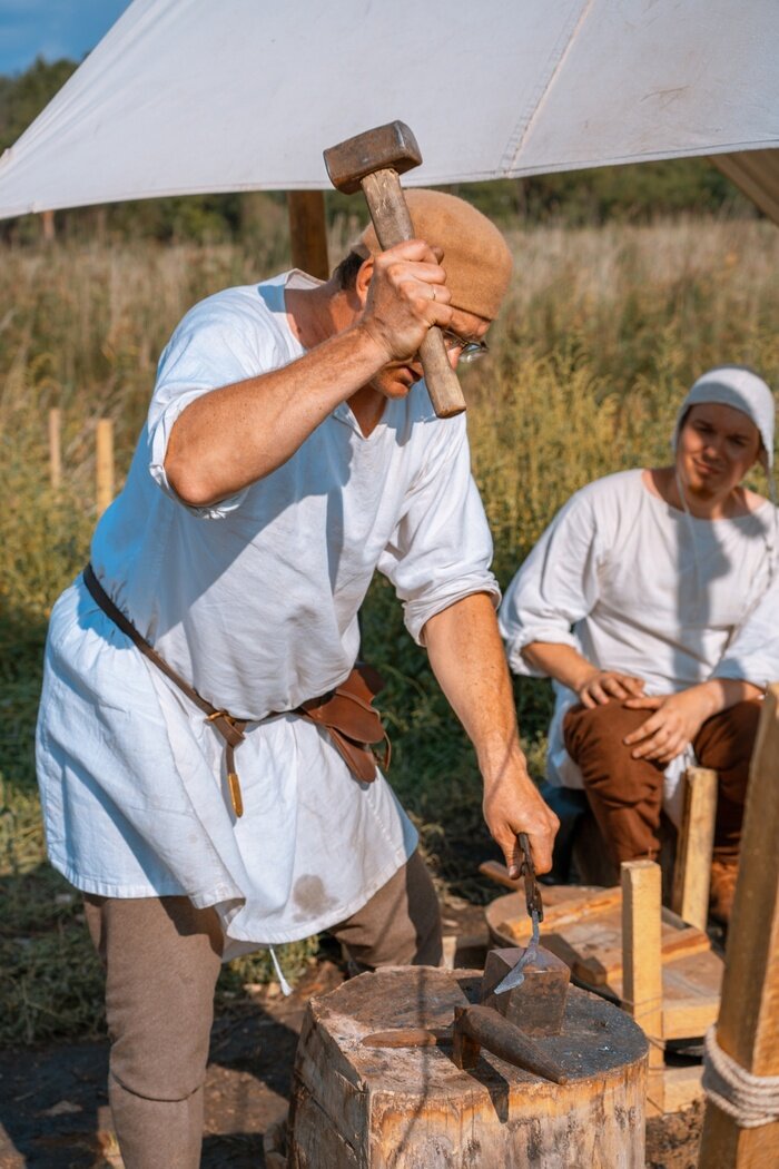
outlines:
[[[522, 649], [550, 642], [573, 646], [600, 669], [638, 675], [647, 694], [709, 678], [765, 686], [779, 678], [775, 584], [766, 593], [775, 526], [767, 500], [736, 519], [695, 519], [654, 496], [640, 470], [589, 484], [558, 512], [506, 593], [500, 625], [512, 669], [542, 677]], [[578, 698], [554, 686], [548, 776], [582, 787], [563, 742], [565, 712]], [[666, 769], [666, 808], [675, 819], [690, 762], [691, 753]]]

